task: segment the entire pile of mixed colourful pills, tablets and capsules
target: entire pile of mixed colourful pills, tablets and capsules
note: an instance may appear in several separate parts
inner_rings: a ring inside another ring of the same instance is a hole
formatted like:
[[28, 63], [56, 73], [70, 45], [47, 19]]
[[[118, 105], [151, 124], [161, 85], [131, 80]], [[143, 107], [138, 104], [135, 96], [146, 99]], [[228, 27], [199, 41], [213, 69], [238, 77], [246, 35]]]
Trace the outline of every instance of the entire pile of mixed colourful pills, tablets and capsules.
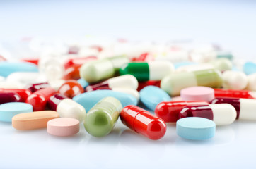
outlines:
[[1, 56], [0, 121], [17, 130], [47, 127], [56, 136], [76, 134], [83, 123], [89, 134], [104, 137], [120, 117], [131, 130], [156, 140], [165, 135], [166, 123], [176, 123], [180, 137], [209, 139], [216, 125], [256, 120], [256, 65], [246, 63], [243, 73], [234, 68], [231, 54], [214, 53], [211, 61], [198, 63], [191, 58], [209, 54], [194, 51], [190, 61], [173, 63], [149, 53], [132, 58], [69, 53], [63, 61]]

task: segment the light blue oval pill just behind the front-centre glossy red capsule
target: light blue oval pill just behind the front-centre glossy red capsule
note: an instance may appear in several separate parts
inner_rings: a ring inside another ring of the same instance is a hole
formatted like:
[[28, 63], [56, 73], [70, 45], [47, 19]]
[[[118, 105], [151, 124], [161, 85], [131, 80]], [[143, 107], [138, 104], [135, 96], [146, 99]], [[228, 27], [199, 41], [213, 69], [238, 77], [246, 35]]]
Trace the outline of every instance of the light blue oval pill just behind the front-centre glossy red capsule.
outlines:
[[163, 89], [155, 86], [147, 86], [139, 92], [141, 102], [154, 111], [156, 106], [162, 101], [170, 101], [171, 98]]

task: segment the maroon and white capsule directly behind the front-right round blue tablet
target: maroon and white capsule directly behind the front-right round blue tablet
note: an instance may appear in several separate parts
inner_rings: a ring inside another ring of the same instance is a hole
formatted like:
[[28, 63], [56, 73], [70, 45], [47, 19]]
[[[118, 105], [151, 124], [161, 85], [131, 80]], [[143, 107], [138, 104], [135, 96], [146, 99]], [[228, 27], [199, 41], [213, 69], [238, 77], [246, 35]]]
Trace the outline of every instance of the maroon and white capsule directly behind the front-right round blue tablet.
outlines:
[[185, 106], [179, 118], [199, 117], [213, 120], [216, 125], [230, 125], [235, 121], [236, 111], [231, 104]]

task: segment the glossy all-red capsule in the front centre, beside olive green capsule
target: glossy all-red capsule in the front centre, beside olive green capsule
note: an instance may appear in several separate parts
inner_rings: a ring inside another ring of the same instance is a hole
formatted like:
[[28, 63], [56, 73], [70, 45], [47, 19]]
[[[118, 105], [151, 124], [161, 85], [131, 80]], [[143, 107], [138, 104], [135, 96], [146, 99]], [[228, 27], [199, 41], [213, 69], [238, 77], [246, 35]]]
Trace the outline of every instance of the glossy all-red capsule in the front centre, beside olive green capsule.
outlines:
[[124, 107], [120, 118], [124, 125], [149, 139], [161, 139], [165, 135], [165, 122], [138, 106]]

